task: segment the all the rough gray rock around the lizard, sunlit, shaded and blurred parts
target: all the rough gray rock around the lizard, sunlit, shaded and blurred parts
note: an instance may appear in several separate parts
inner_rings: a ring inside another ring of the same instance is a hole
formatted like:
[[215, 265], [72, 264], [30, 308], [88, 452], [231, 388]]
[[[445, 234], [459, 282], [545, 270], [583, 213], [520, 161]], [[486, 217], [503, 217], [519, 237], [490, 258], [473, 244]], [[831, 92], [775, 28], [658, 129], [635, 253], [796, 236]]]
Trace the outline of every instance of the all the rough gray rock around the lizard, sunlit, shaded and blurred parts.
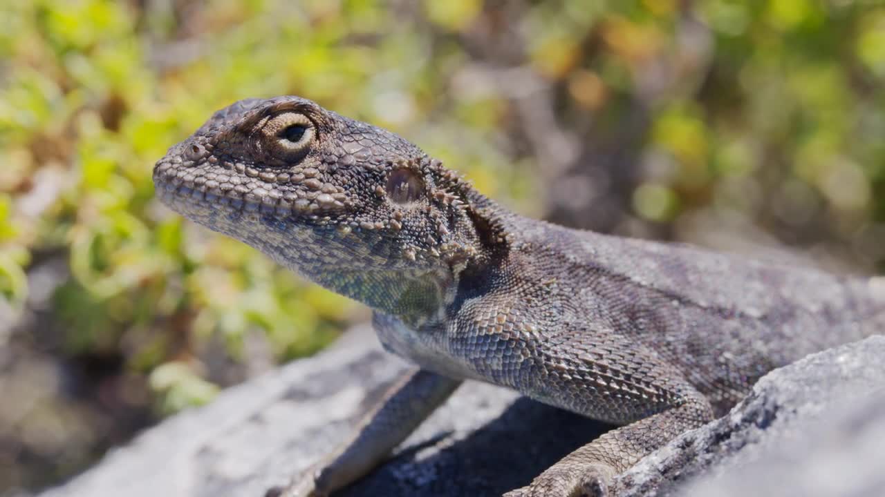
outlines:
[[[643, 460], [622, 480], [624, 491], [645, 495], [660, 484], [666, 494], [880, 495], [883, 358], [885, 338], [875, 337], [774, 371], [729, 416]], [[367, 330], [351, 333], [168, 419], [43, 495], [261, 497], [341, 440], [404, 367]], [[606, 429], [468, 382], [390, 463], [343, 494], [500, 495]], [[715, 476], [682, 486], [704, 473]]]

